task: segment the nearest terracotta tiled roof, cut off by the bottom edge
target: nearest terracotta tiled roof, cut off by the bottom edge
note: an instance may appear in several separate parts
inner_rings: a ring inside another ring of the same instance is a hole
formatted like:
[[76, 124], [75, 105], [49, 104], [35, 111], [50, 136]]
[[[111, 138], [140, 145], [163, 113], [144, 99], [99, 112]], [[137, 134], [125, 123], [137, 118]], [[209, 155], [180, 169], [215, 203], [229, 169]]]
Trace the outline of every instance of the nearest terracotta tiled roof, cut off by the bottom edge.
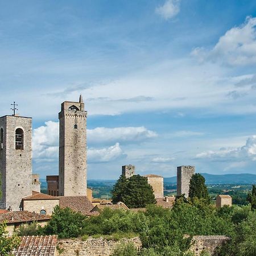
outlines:
[[54, 256], [56, 255], [57, 236], [21, 237], [20, 245], [14, 249], [14, 256]]

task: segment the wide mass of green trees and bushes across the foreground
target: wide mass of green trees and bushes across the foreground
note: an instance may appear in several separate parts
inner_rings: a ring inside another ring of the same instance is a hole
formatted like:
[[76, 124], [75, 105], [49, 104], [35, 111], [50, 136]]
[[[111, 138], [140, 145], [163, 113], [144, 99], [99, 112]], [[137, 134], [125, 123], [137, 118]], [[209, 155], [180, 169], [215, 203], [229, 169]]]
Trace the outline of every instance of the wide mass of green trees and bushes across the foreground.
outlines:
[[[99, 216], [86, 218], [71, 209], [56, 207], [46, 227], [36, 230], [84, 240], [88, 236], [103, 236], [119, 241], [123, 237], [138, 235], [142, 249], [134, 255], [140, 256], [189, 255], [192, 236], [225, 235], [232, 240], [219, 255], [250, 256], [256, 255], [256, 211], [250, 208], [250, 205], [215, 208], [205, 200], [180, 197], [171, 210], [154, 204], [148, 205], [146, 212], [106, 208]], [[122, 254], [123, 248], [121, 246], [114, 255], [133, 255]], [[134, 253], [131, 247], [128, 249]]]

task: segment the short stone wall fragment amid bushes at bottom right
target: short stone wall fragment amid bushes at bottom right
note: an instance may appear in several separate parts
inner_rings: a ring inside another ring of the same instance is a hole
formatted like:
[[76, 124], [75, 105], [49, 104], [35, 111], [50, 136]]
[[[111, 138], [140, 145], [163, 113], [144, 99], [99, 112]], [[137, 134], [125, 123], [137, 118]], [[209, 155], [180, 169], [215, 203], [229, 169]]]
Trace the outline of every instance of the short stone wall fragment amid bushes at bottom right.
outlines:
[[226, 236], [194, 236], [190, 250], [195, 255], [200, 255], [202, 251], [208, 251], [210, 255], [214, 255], [215, 250], [229, 240], [230, 238]]

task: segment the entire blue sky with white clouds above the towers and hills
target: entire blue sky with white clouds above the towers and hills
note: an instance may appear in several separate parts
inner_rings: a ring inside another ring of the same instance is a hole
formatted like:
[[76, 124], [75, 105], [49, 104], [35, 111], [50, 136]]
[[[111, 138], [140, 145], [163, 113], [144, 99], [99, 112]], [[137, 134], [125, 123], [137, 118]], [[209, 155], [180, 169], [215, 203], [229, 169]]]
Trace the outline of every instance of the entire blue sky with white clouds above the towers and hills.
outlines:
[[256, 174], [256, 1], [1, 1], [0, 115], [58, 172], [61, 102], [88, 110], [88, 178]]

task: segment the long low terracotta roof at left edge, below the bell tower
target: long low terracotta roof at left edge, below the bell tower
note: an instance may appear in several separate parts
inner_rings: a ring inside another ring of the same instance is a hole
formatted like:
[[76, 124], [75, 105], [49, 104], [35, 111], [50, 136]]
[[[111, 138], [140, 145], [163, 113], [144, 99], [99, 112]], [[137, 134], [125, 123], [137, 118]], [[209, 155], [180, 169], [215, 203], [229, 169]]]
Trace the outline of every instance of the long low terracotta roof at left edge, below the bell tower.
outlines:
[[51, 216], [34, 212], [28, 212], [27, 210], [20, 210], [19, 212], [7, 212], [0, 214], [0, 222], [6, 221], [7, 224], [50, 219]]

